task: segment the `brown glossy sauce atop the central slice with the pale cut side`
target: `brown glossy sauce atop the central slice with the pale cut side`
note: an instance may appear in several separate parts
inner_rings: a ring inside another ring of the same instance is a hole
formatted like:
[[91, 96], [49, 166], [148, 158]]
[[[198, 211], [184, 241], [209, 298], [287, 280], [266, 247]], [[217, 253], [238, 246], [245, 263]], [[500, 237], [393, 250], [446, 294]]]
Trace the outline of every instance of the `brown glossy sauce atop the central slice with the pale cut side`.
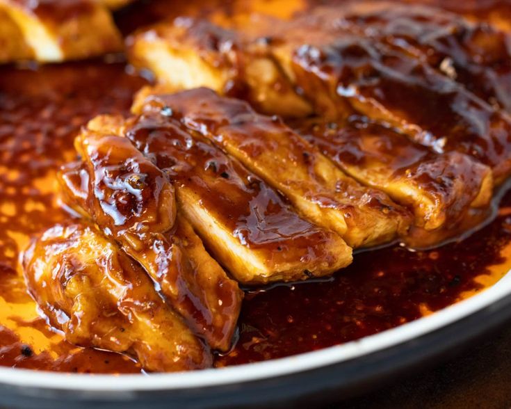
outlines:
[[[297, 239], [298, 233], [302, 240], [314, 241], [314, 225], [295, 217], [273, 189], [238, 161], [206, 141], [194, 140], [179, 122], [172, 124], [165, 116], [143, 116], [127, 129], [127, 136], [138, 149], [155, 157], [157, 166], [178, 186], [198, 194], [204, 208], [243, 245], [282, 251], [286, 248], [277, 250], [282, 245], [279, 241]], [[315, 239], [321, 240], [321, 235]]]

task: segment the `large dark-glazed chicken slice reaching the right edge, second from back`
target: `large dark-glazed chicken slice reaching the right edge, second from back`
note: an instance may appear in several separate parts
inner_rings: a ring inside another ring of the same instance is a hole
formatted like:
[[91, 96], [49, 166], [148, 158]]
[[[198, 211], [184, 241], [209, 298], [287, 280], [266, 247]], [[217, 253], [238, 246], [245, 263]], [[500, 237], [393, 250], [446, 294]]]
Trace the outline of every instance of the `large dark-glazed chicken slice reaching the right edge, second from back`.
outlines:
[[420, 58], [331, 29], [339, 13], [327, 14], [330, 25], [327, 17], [318, 24], [309, 15], [291, 22], [254, 19], [238, 27], [237, 44], [257, 44], [261, 53], [266, 47], [319, 115], [337, 120], [363, 113], [436, 152], [470, 154], [492, 168], [497, 184], [503, 182], [511, 172], [508, 116]]

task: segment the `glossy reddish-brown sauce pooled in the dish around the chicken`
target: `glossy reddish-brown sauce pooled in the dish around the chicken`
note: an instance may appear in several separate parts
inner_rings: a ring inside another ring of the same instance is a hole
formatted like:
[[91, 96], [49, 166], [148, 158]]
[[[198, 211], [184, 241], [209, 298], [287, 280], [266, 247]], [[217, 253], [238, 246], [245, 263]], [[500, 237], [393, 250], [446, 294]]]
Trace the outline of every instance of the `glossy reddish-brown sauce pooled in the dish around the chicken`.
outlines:
[[[127, 12], [126, 12], [127, 13]], [[0, 68], [0, 364], [51, 371], [139, 372], [127, 357], [77, 348], [51, 332], [26, 294], [17, 262], [29, 236], [68, 218], [56, 200], [56, 169], [99, 113], [127, 115], [145, 83], [123, 64]], [[236, 347], [217, 366], [316, 350], [394, 328], [494, 284], [511, 266], [511, 195], [485, 229], [460, 243], [355, 256], [323, 281], [251, 289]]]

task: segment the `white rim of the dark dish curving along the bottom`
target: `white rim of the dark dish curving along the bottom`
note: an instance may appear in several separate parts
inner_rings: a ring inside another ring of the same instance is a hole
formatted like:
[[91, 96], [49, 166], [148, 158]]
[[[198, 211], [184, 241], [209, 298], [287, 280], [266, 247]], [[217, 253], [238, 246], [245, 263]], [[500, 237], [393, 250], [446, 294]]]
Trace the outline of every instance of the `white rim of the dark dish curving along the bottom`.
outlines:
[[251, 383], [329, 367], [406, 344], [511, 297], [511, 270], [492, 287], [402, 326], [346, 344], [264, 362], [166, 374], [70, 374], [0, 367], [0, 384], [71, 392], [157, 392]]

